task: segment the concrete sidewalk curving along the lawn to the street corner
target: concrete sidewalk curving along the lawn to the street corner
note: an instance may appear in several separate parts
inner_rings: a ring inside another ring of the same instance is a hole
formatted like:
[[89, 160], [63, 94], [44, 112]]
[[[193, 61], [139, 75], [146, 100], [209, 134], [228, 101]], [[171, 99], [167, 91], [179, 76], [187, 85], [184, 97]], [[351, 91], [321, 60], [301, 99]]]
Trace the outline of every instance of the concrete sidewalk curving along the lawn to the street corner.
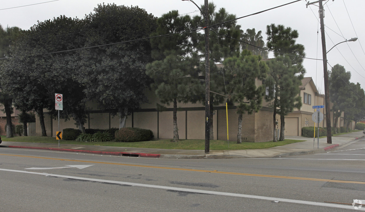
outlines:
[[258, 157], [285, 157], [293, 155], [306, 155], [326, 152], [329, 149], [338, 148], [364, 137], [362, 131], [347, 133], [345, 135], [333, 136], [332, 144], [327, 144], [327, 138], [309, 139], [301, 136], [285, 136], [286, 139], [306, 140], [302, 142], [287, 144], [266, 149], [242, 149], [242, 150], [211, 150], [209, 154], [204, 154], [204, 150], [185, 150], [185, 149], [150, 149], [150, 148], [131, 148], [131, 147], [107, 147], [99, 145], [74, 145], [26, 143], [3, 141], [0, 147], [8, 148], [27, 148], [45, 149], [52, 151], [92, 153], [101, 155], [135, 156], [135, 157], [161, 157], [161, 158], [258, 158]]

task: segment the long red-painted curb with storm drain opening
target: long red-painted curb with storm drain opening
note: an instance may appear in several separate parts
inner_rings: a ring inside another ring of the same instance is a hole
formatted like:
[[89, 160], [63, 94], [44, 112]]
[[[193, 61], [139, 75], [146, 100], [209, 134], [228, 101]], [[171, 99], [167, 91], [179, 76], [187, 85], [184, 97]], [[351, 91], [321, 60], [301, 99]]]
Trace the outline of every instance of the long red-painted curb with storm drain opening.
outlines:
[[160, 157], [158, 154], [147, 154], [138, 152], [103, 152], [103, 151], [90, 151], [90, 150], [79, 150], [79, 149], [59, 149], [59, 148], [48, 148], [48, 147], [22, 147], [22, 146], [8, 146], [9, 148], [24, 148], [24, 149], [45, 149], [52, 151], [62, 151], [62, 152], [79, 152], [79, 153], [89, 153], [98, 155], [115, 155], [115, 156], [137, 156], [137, 157]]

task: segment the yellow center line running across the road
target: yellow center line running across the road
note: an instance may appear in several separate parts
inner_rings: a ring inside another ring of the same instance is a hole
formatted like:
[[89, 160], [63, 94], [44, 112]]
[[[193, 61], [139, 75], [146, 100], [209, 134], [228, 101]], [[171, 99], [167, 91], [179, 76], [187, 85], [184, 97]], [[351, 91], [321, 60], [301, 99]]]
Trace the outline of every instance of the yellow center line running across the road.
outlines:
[[209, 172], [209, 173], [243, 175], [243, 176], [254, 176], [254, 177], [273, 177], [273, 178], [293, 179], [293, 180], [312, 180], [312, 181], [324, 181], [324, 182], [334, 182], [334, 183], [365, 184], [365, 182], [360, 182], [360, 181], [328, 180], [328, 179], [316, 179], [316, 178], [306, 178], [306, 177], [275, 176], [275, 175], [256, 175], [256, 174], [236, 173], [236, 172], [219, 172], [219, 171], [209, 171], [209, 170], [199, 170], [199, 169], [169, 168], [169, 167], [157, 167], [157, 166], [148, 166], [148, 165], [133, 165], [133, 164], [108, 163], [108, 162], [97, 162], [97, 161], [87, 161], [87, 160], [57, 159], [57, 158], [51, 158], [51, 157], [35, 157], [35, 156], [24, 156], [24, 155], [8, 155], [8, 154], [0, 154], [0, 155], [16, 156], [16, 157], [30, 157], [30, 158], [47, 159], [47, 160], [74, 161], [74, 162], [83, 162], [83, 163], [100, 163], [100, 164], [111, 164], [111, 165], [125, 165], [125, 166], [144, 167], [144, 168], [159, 168], [159, 169], [171, 169], [171, 170], [181, 170], [181, 171]]

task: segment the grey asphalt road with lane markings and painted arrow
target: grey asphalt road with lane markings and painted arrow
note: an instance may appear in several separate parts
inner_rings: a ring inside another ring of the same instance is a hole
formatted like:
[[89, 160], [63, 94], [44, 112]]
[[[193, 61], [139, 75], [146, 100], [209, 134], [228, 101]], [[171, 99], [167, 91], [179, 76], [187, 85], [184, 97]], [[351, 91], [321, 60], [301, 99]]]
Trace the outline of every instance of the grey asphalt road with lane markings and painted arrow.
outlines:
[[365, 140], [323, 154], [261, 159], [0, 148], [0, 211], [353, 210], [354, 200], [365, 204], [364, 162]]

